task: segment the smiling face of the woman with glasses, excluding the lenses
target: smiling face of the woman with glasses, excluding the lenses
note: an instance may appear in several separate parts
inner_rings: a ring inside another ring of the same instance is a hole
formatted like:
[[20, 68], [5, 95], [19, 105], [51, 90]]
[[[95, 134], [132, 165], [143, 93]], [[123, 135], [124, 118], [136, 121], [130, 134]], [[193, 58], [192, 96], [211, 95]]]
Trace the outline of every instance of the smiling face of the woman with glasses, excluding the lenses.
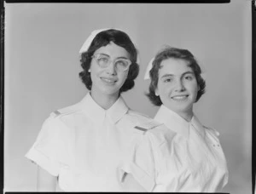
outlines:
[[119, 47], [113, 42], [107, 46], [98, 48], [94, 55], [103, 54], [112, 61], [108, 67], [102, 68], [95, 58], [90, 63], [91, 95], [97, 97], [113, 96], [118, 98], [119, 89], [125, 83], [129, 68], [126, 71], [116, 70], [113, 61], [116, 59], [129, 59], [130, 54], [125, 48]]

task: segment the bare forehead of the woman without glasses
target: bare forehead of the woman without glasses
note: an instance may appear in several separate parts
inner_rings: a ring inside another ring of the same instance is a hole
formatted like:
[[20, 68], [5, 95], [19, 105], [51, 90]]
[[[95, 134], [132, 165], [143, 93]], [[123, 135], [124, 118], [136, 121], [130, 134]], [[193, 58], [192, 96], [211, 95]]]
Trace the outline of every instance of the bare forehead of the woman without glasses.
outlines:
[[159, 75], [172, 74], [182, 75], [184, 72], [193, 71], [187, 60], [169, 58], [160, 63]]

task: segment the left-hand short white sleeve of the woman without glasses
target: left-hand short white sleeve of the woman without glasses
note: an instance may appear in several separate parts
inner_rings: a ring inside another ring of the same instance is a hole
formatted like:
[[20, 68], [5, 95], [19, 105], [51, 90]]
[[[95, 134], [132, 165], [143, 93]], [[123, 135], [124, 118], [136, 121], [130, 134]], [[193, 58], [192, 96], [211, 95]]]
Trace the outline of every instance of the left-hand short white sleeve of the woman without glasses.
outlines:
[[[146, 191], [153, 191], [155, 185], [154, 150], [147, 134], [142, 134], [127, 151], [125, 162], [120, 170], [125, 174], [132, 174]], [[125, 176], [123, 176], [124, 181]]]

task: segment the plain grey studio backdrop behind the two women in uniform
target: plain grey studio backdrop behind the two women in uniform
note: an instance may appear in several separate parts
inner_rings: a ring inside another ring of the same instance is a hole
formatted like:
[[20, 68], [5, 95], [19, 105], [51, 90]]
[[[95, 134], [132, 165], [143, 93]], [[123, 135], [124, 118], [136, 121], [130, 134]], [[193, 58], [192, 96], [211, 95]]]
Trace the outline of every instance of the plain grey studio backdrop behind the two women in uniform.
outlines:
[[201, 123], [218, 129], [230, 171], [224, 191], [252, 193], [251, 2], [5, 4], [4, 189], [36, 191], [37, 167], [24, 157], [51, 111], [77, 103], [79, 49], [95, 29], [130, 35], [140, 55], [136, 85], [123, 94], [132, 109], [154, 117], [144, 95], [148, 61], [169, 44], [188, 48], [205, 72], [195, 104]]

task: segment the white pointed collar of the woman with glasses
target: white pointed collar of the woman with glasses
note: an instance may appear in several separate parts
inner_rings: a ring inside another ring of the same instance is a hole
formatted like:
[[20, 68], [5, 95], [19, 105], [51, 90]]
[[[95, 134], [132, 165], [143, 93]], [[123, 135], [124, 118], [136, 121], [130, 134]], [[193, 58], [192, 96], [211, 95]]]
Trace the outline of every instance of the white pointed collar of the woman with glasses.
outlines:
[[119, 96], [119, 99], [116, 100], [115, 103], [113, 103], [113, 106], [108, 108], [108, 110], [105, 110], [102, 108], [102, 106], [99, 106], [96, 101], [92, 99], [90, 93], [87, 93], [80, 103], [86, 115], [95, 122], [103, 122], [105, 117], [108, 117], [113, 123], [116, 123], [129, 109], [128, 106], [126, 106], [125, 100], [123, 100], [122, 96]]

